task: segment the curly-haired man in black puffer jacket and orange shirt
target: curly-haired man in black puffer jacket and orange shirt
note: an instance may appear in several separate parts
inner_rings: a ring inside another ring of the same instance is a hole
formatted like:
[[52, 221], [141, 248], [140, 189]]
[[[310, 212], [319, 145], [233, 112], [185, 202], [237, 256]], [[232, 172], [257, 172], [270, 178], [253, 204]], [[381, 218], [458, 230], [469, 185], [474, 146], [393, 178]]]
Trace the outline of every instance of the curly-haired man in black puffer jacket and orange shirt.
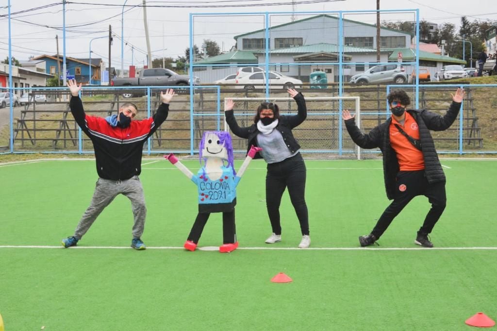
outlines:
[[392, 91], [388, 103], [392, 117], [363, 134], [355, 125], [354, 116], [344, 110], [347, 131], [359, 147], [379, 148], [383, 153], [383, 173], [387, 197], [394, 199], [385, 209], [369, 235], [359, 237], [362, 247], [373, 245], [387, 230], [393, 219], [417, 195], [424, 195], [431, 203], [424, 223], [417, 232], [415, 244], [433, 247], [428, 234], [445, 209], [445, 174], [438, 160], [429, 130], [449, 128], [459, 113], [464, 99], [464, 89], [452, 94], [452, 104], [444, 116], [427, 110], [407, 110], [411, 103], [403, 90]]

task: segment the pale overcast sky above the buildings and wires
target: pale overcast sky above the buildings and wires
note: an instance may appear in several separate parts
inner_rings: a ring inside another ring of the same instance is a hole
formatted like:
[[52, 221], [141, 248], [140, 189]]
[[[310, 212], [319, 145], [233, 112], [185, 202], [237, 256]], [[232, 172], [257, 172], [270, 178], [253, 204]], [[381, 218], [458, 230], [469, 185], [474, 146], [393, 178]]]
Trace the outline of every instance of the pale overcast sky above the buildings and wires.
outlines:
[[[71, 0], [69, 0], [71, 1]], [[66, 55], [77, 58], [88, 58], [89, 43], [92, 38], [108, 36], [109, 24], [118, 37], [114, 37], [111, 50], [112, 66], [121, 65], [121, 12], [125, 0], [74, 0], [66, 4]], [[79, 2], [79, 3], [78, 3]], [[84, 2], [85, 4], [83, 4]], [[308, 3], [304, 3], [308, 2]], [[317, 2], [317, 3], [310, 3]], [[489, 0], [455, 1], [455, 0], [381, 0], [381, 9], [419, 9], [420, 19], [434, 23], [454, 23], [459, 25], [462, 15], [470, 21], [497, 20], [497, 7], [488, 5]], [[0, 15], [0, 58], [8, 55], [8, 25], [7, 0], [1, 0]], [[62, 0], [10, 0], [11, 12], [19, 12], [30, 8], [56, 4], [47, 8], [26, 11], [12, 15], [12, 56], [20, 60], [27, 60], [30, 55], [55, 54], [56, 40], [59, 36], [59, 52], [63, 52], [61, 30], [63, 26]], [[105, 3], [106, 6], [98, 5]], [[149, 0], [150, 5], [215, 5], [216, 7], [149, 7], [147, 18], [153, 58], [176, 58], [184, 55], [189, 45], [189, 14], [190, 13], [261, 13], [260, 15], [241, 16], [194, 16], [194, 42], [198, 46], [203, 39], [212, 39], [218, 42], [224, 50], [229, 50], [234, 44], [233, 36], [264, 28], [263, 13], [291, 12], [291, 0], [183, 0], [157, 1]], [[271, 4], [268, 4], [271, 3]], [[274, 5], [282, 3], [282, 5]], [[116, 6], [111, 6], [114, 4]], [[124, 66], [143, 64], [147, 50], [145, 29], [143, 22], [143, 8], [133, 7], [142, 4], [142, 0], [127, 0], [124, 7], [124, 40], [129, 45], [124, 48]], [[238, 7], [223, 7], [229, 4]], [[252, 5], [248, 4], [263, 4]], [[246, 5], [246, 6], [240, 6]], [[494, 8], [492, 8], [494, 7]], [[296, 0], [295, 11], [356, 11], [375, 10], [375, 0]], [[490, 10], [489, 10], [490, 9]], [[488, 12], [491, 11], [491, 12]], [[296, 19], [306, 18], [314, 14], [296, 14]], [[112, 17], [115, 16], [115, 17]], [[374, 15], [362, 13], [344, 13], [347, 19], [374, 24]], [[409, 13], [382, 13], [383, 20], [414, 20], [413, 12]], [[22, 21], [19, 21], [22, 20]], [[291, 21], [290, 14], [271, 14], [270, 24], [276, 25]], [[39, 25], [34, 25], [34, 24]], [[82, 25], [82, 26], [77, 26]], [[54, 29], [60, 28], [60, 29]], [[164, 33], [163, 33], [164, 31]], [[135, 50], [132, 51], [131, 45]], [[164, 46], [163, 46], [164, 45]], [[163, 51], [163, 49], [166, 49]], [[92, 58], [101, 57], [108, 64], [108, 42], [106, 38], [91, 42]], [[133, 59], [132, 59], [133, 53]]]

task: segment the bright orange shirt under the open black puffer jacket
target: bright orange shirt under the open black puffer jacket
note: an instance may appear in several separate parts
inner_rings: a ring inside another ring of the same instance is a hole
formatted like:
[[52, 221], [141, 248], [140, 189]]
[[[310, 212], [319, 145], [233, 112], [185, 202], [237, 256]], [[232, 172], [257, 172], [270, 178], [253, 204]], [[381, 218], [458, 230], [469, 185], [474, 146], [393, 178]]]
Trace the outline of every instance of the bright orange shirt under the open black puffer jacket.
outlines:
[[399, 160], [401, 171], [422, 170], [424, 169], [423, 153], [415, 148], [394, 125], [398, 124], [408, 135], [414, 139], [419, 139], [419, 127], [414, 117], [407, 111], [405, 114], [404, 125], [401, 125], [392, 116], [392, 123], [390, 123], [390, 145], [395, 153], [397, 153], [397, 160]]

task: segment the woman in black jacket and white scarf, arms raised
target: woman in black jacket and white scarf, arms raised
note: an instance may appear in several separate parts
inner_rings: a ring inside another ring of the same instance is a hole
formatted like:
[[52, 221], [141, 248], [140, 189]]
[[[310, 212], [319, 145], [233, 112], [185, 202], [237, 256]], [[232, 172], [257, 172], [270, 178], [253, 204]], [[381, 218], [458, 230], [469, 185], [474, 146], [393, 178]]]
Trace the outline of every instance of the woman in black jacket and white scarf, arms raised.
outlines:
[[257, 108], [253, 119], [254, 124], [241, 128], [233, 114], [235, 103], [232, 99], [226, 99], [225, 115], [231, 131], [240, 138], [248, 139], [249, 148], [252, 145], [262, 148], [254, 159], [263, 158], [267, 163], [266, 207], [272, 234], [266, 243], [274, 244], [281, 241], [279, 206], [283, 192], [288, 187], [290, 200], [297, 213], [302, 232], [302, 240], [298, 247], [308, 248], [311, 238], [309, 237], [307, 204], [304, 198], [306, 165], [299, 152], [300, 145], [292, 134], [292, 129], [306, 119], [307, 108], [302, 93], [292, 88], [288, 89], [288, 93], [297, 102], [297, 115], [280, 116], [278, 105], [263, 102]]

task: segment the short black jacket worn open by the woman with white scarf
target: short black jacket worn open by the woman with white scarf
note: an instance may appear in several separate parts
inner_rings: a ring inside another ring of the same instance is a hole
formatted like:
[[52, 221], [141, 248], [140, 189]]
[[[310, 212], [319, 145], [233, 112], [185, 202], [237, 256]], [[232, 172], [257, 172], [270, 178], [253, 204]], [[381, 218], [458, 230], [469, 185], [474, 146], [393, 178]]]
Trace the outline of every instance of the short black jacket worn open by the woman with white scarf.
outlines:
[[[297, 115], [280, 116], [278, 119], [278, 125], [276, 126], [276, 130], [281, 133], [281, 136], [283, 137], [283, 140], [291, 153], [295, 153], [300, 149], [299, 143], [297, 143], [297, 140], [293, 137], [292, 129], [304, 122], [307, 117], [307, 107], [304, 95], [299, 93], [295, 95], [294, 99], [295, 102], [297, 102]], [[238, 126], [233, 110], [225, 111], [225, 116], [226, 123], [230, 126], [231, 131], [240, 138], [248, 139], [247, 153], [252, 145], [257, 146], [257, 134], [259, 134], [257, 125], [252, 124], [248, 127], [241, 128]], [[257, 153], [254, 159], [262, 159], [262, 156]]]

